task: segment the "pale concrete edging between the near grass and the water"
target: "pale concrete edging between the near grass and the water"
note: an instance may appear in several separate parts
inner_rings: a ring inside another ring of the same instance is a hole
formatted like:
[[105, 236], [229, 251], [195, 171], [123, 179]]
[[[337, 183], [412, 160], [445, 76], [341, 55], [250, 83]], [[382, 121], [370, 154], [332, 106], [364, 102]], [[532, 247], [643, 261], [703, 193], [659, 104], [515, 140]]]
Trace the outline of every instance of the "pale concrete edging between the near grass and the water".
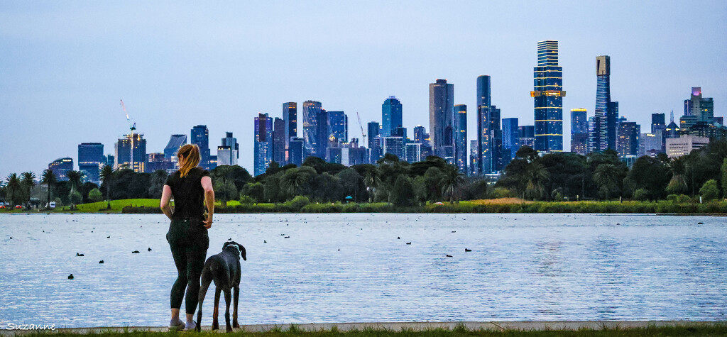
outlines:
[[[411, 330], [426, 330], [435, 328], [449, 328], [453, 329], [457, 325], [463, 324], [467, 329], [478, 330], [578, 330], [580, 328], [590, 329], [601, 329], [601, 328], [646, 328], [648, 326], [673, 326], [673, 325], [687, 325], [687, 326], [704, 326], [704, 325], [720, 325], [727, 324], [727, 322], [688, 322], [688, 321], [563, 321], [563, 322], [370, 322], [370, 323], [308, 323], [308, 324], [294, 324], [296, 328], [301, 330], [331, 330], [332, 327], [337, 327], [338, 330], [348, 331], [352, 329], [363, 330], [364, 328], [374, 329], [386, 329], [400, 331], [402, 329]], [[202, 330], [211, 330], [211, 326], [203, 326]], [[221, 330], [218, 332], [224, 332], [224, 323], [220, 325]], [[241, 330], [249, 332], [260, 332], [266, 331], [273, 328], [280, 328], [281, 330], [288, 330], [290, 324], [252, 324], [242, 325]], [[164, 332], [169, 329], [166, 327], [128, 327], [128, 328], [57, 328], [55, 330], [44, 330], [48, 333], [103, 333], [103, 332], [124, 332], [124, 329], [132, 330], [146, 330], [155, 332]], [[35, 332], [36, 330], [0, 330], [0, 336], [20, 336], [27, 333]]]

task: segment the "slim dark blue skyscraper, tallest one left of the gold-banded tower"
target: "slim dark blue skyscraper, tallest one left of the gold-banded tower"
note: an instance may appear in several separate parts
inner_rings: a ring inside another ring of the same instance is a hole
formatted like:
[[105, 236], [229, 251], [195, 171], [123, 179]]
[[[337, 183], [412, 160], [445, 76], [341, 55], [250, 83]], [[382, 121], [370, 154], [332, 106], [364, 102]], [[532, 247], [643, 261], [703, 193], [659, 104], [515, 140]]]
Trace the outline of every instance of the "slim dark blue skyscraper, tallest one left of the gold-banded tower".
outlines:
[[477, 174], [488, 174], [492, 171], [490, 100], [490, 76], [477, 76]]

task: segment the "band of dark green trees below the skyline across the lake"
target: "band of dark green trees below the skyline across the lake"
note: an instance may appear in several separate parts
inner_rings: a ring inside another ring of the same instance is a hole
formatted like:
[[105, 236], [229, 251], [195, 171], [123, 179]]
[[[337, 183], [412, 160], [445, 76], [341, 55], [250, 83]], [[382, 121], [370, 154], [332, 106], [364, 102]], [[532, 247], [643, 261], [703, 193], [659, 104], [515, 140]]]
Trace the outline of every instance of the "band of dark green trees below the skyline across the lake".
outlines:
[[[251, 176], [241, 166], [218, 166], [210, 171], [215, 197], [222, 205], [283, 203], [298, 195], [318, 203], [338, 201], [385, 202], [417, 206], [429, 202], [517, 197], [526, 200], [688, 200], [719, 198], [727, 191], [727, 143], [710, 142], [688, 155], [670, 159], [643, 156], [631, 168], [614, 150], [578, 155], [539, 155], [521, 147], [494, 184], [484, 176], [465, 176], [442, 158], [407, 163], [386, 154], [376, 164], [343, 166], [308, 157], [302, 165], [271, 163], [264, 174]], [[131, 198], [159, 198], [166, 171], [137, 173], [131, 169], [100, 171], [101, 186], [83, 182], [83, 172], [68, 171], [58, 181], [45, 170], [39, 182], [33, 172], [10, 174], [0, 185], [0, 200], [12, 205], [64, 205]], [[41, 191], [39, 187], [46, 187]], [[110, 206], [110, 205], [109, 205]]]

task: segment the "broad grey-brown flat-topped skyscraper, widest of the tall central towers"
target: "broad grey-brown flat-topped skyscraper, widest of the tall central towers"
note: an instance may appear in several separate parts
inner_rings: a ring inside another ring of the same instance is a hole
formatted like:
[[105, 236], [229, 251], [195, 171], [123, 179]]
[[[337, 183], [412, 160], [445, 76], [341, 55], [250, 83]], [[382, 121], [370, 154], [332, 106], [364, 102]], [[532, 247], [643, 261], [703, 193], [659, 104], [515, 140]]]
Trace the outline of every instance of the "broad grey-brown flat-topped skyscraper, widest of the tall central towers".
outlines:
[[454, 156], [454, 84], [438, 79], [429, 84], [429, 130], [434, 155]]

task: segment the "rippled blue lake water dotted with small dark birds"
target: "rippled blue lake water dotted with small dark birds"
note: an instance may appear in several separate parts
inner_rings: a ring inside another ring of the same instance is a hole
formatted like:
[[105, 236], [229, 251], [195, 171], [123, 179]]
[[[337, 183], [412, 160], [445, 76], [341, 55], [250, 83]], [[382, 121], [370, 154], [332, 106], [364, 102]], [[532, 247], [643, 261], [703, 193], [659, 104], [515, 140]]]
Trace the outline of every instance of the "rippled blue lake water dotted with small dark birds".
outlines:
[[[727, 218], [215, 217], [208, 256], [230, 237], [247, 248], [241, 324], [727, 320]], [[166, 325], [176, 269], [165, 219], [0, 216], [0, 324]]]

